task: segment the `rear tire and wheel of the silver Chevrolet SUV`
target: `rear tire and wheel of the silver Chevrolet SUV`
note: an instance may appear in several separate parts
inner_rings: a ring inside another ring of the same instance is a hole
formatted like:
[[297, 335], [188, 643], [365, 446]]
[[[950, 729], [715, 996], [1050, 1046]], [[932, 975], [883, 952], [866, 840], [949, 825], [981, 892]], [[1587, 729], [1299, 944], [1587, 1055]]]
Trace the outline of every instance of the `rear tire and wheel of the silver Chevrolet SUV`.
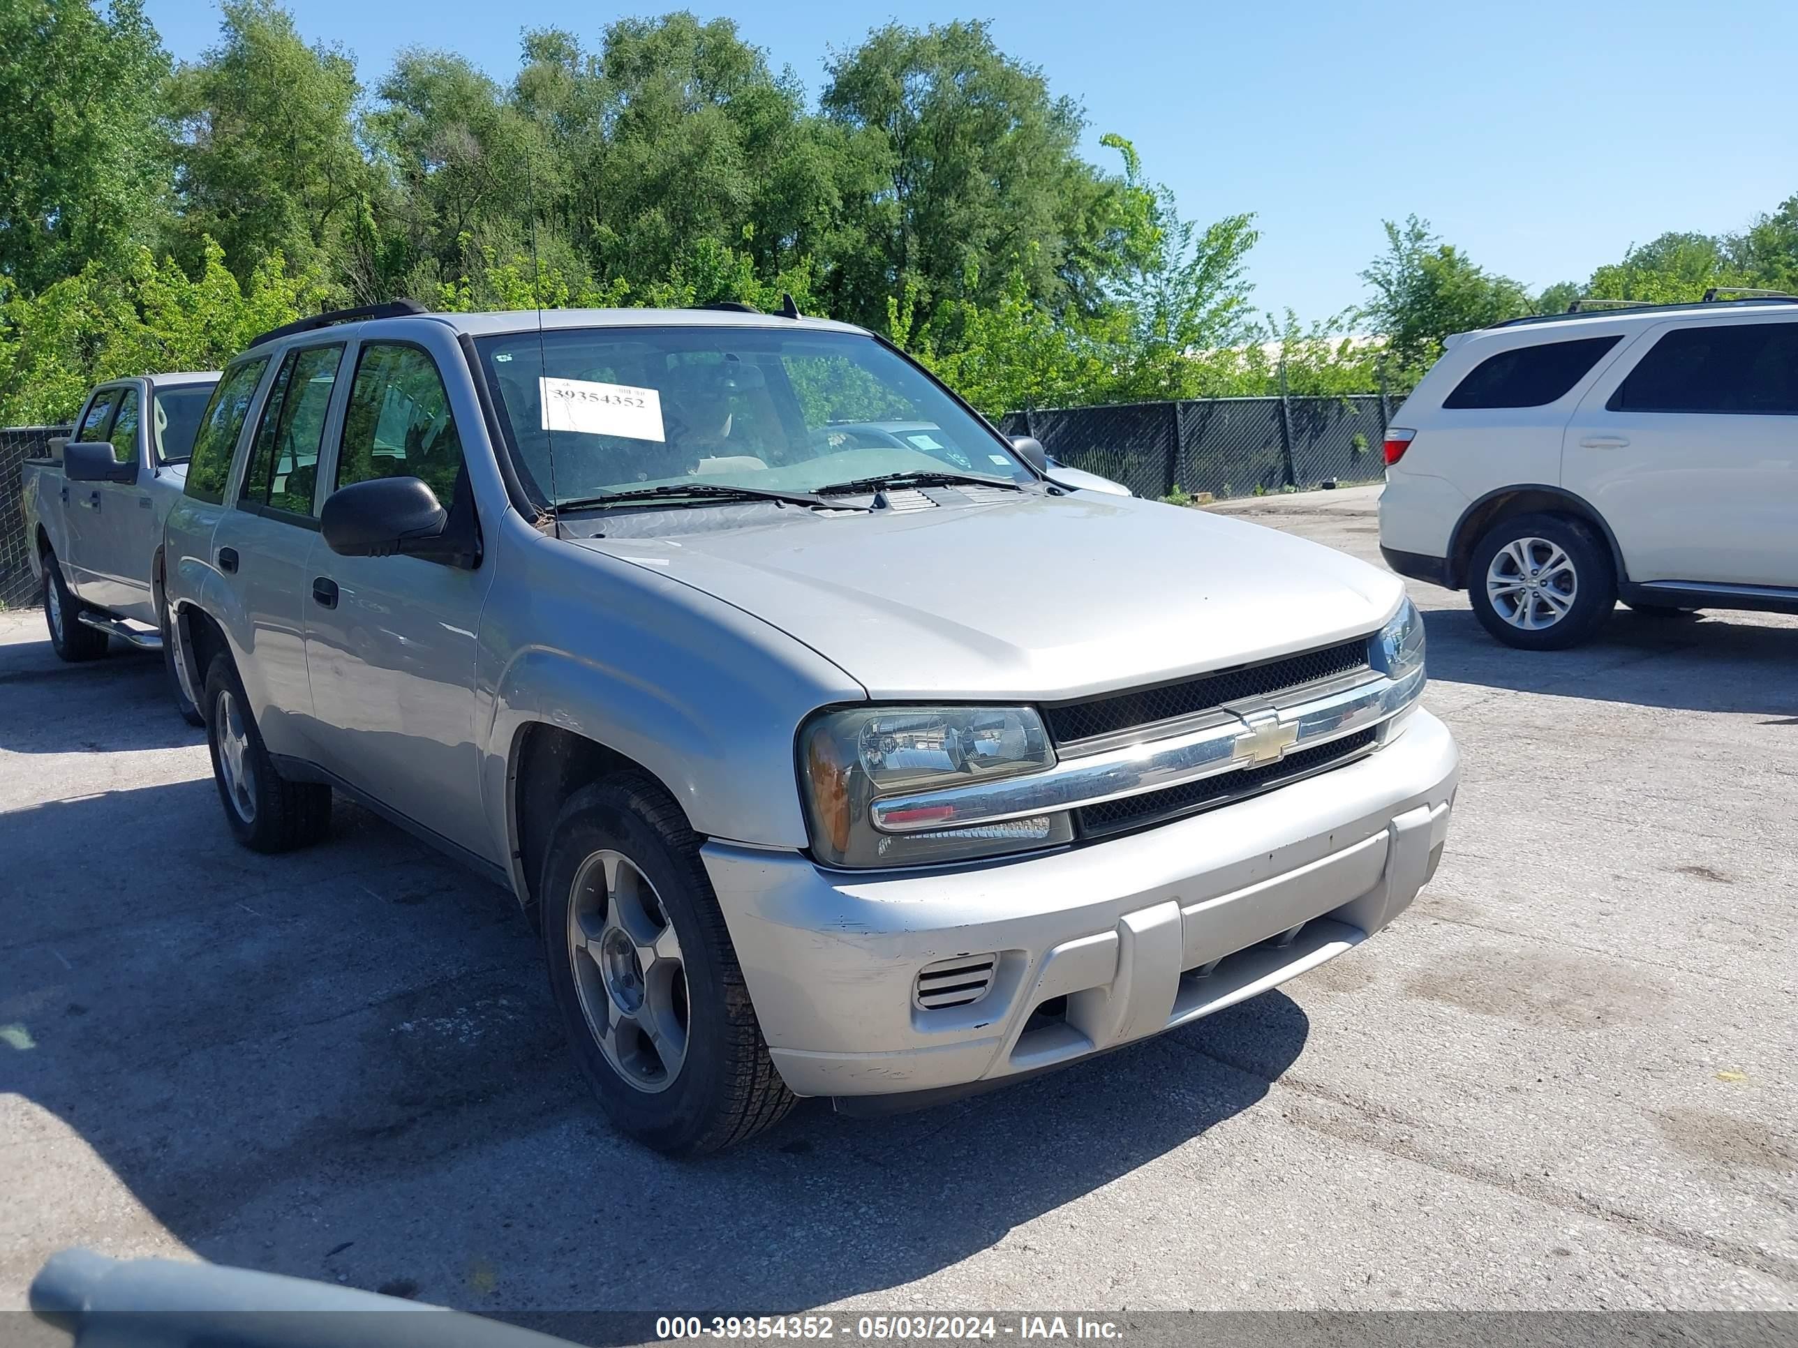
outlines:
[[207, 751], [232, 836], [252, 852], [291, 852], [331, 830], [331, 787], [275, 771], [230, 656], [212, 656], [205, 690]]

